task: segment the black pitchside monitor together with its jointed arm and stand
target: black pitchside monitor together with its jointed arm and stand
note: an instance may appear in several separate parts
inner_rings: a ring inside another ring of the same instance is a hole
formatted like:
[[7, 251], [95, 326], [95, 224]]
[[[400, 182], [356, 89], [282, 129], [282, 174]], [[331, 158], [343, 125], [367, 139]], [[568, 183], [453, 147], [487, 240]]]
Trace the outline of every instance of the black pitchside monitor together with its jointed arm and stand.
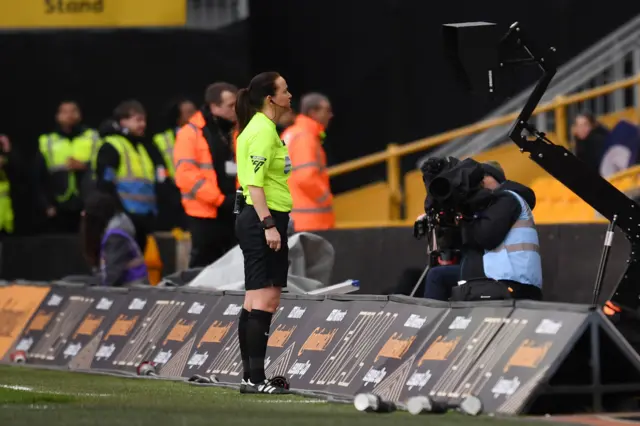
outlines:
[[501, 75], [508, 68], [534, 65], [542, 71], [542, 76], [509, 131], [509, 138], [518, 145], [520, 152], [529, 153], [534, 162], [609, 221], [593, 290], [594, 306], [598, 306], [614, 227], [618, 227], [629, 240], [631, 251], [627, 268], [602, 308], [629, 343], [639, 351], [640, 205], [529, 123], [557, 71], [556, 49], [539, 50], [517, 22], [499, 40], [495, 37], [495, 31], [495, 24], [487, 22], [445, 25], [445, 48], [450, 55], [455, 50], [453, 56], [457, 57], [456, 66], [465, 83], [480, 87], [491, 96], [500, 90]]

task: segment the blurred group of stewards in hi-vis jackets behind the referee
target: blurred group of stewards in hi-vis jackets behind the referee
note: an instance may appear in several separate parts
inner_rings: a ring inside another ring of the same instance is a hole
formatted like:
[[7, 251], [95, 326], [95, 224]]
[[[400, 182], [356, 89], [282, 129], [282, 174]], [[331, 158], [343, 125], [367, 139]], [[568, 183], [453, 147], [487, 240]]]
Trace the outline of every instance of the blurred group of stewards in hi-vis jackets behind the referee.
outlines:
[[[0, 135], [0, 232], [14, 233], [15, 212], [28, 211], [38, 218], [30, 233], [93, 234], [84, 236], [85, 254], [98, 267], [104, 259], [92, 254], [101, 252], [118, 217], [116, 228], [140, 252], [150, 233], [179, 228], [192, 234], [190, 266], [210, 264], [236, 244], [237, 91], [217, 82], [201, 103], [177, 100], [155, 134], [137, 100], [121, 102], [97, 128], [83, 121], [77, 102], [61, 101], [55, 127], [42, 129], [35, 160], [16, 155], [11, 135]], [[322, 144], [331, 104], [320, 93], [297, 104], [298, 112], [274, 123], [292, 163], [291, 228], [329, 229], [335, 218]]]

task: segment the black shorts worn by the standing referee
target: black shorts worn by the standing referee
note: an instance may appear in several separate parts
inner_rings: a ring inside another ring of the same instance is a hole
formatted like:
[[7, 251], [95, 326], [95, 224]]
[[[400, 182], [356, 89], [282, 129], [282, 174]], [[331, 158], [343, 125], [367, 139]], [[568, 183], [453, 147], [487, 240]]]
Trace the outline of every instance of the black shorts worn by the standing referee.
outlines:
[[244, 256], [244, 288], [259, 290], [267, 287], [286, 287], [289, 275], [289, 245], [287, 228], [289, 213], [271, 210], [280, 233], [280, 250], [267, 245], [264, 229], [253, 206], [246, 205], [236, 219], [236, 237]]

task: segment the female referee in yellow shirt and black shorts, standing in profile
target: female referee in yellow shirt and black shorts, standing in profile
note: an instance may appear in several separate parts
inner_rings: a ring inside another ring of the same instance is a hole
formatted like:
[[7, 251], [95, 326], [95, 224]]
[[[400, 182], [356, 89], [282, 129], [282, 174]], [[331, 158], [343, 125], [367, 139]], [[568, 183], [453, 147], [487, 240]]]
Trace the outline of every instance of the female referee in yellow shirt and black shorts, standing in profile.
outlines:
[[267, 379], [264, 357], [273, 313], [287, 286], [287, 227], [291, 193], [287, 179], [291, 161], [276, 123], [290, 109], [287, 82], [276, 72], [256, 75], [238, 92], [238, 180], [245, 206], [236, 219], [236, 235], [244, 256], [244, 309], [238, 339], [244, 376], [242, 393], [288, 393], [283, 377]]

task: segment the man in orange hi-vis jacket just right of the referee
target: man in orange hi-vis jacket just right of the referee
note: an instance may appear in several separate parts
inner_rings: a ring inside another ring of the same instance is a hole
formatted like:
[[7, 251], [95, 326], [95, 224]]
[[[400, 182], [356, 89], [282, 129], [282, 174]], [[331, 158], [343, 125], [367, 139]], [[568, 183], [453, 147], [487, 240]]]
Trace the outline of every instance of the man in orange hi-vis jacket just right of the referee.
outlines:
[[300, 101], [300, 114], [294, 124], [282, 133], [291, 157], [289, 188], [295, 232], [335, 226], [327, 157], [322, 147], [332, 117], [329, 99], [320, 93], [309, 93]]

